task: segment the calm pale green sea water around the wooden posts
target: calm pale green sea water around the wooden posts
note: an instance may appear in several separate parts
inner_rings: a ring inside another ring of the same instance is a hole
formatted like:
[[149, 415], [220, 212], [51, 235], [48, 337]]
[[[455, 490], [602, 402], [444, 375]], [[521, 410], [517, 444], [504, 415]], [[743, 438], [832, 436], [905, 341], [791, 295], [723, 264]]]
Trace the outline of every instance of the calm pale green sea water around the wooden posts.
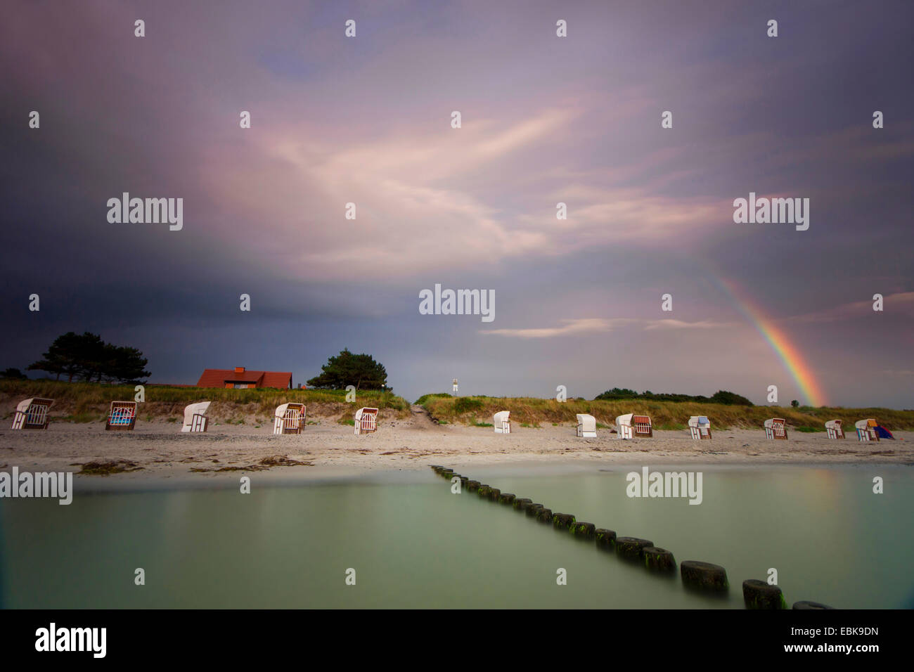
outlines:
[[[630, 470], [463, 472], [620, 536], [652, 539], [676, 560], [721, 564], [727, 598], [685, 592], [678, 578], [512, 507], [452, 495], [428, 472], [271, 486], [255, 476], [250, 495], [236, 486], [78, 492], [69, 507], [3, 499], [0, 599], [44, 608], [742, 608], [741, 582], [773, 567], [788, 603], [914, 605], [912, 467], [704, 469], [700, 506], [628, 498]], [[872, 494], [874, 475], [885, 478], [884, 495]], [[145, 586], [133, 584], [137, 567]], [[345, 584], [348, 568], [355, 586]], [[558, 568], [568, 571], [565, 586]]]

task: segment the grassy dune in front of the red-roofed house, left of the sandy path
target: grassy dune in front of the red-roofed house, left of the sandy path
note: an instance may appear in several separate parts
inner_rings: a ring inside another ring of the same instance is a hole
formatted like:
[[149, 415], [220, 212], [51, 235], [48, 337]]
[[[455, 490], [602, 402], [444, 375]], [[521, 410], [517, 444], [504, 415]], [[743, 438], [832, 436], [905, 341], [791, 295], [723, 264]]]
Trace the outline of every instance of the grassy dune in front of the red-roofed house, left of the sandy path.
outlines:
[[[134, 394], [132, 385], [0, 380], [0, 409], [4, 417], [10, 417], [19, 401], [45, 397], [54, 400], [53, 419], [104, 421], [112, 401], [130, 401]], [[213, 421], [237, 424], [268, 421], [276, 407], [287, 401], [305, 404], [308, 418], [345, 422], [363, 406], [381, 409], [382, 418], [409, 417], [409, 402], [391, 392], [359, 391], [356, 403], [346, 403], [345, 390], [328, 389], [203, 389], [147, 385], [145, 394], [146, 400], [138, 411], [138, 417], [143, 421], [180, 421], [187, 404], [204, 400], [213, 402], [209, 407], [209, 417]]]

